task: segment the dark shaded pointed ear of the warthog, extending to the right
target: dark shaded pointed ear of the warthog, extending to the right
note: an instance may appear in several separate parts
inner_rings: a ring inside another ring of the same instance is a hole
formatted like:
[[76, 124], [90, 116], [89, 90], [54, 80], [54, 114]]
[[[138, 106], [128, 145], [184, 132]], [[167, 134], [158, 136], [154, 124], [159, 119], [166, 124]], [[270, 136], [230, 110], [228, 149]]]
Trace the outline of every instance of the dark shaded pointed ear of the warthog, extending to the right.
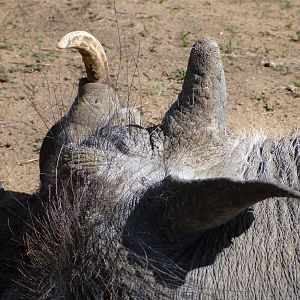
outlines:
[[[155, 189], [161, 219], [177, 234], [193, 233], [225, 224], [249, 206], [271, 197], [294, 197], [300, 192], [262, 181], [229, 178], [180, 181], [171, 177]], [[151, 193], [151, 192], [150, 192]]]

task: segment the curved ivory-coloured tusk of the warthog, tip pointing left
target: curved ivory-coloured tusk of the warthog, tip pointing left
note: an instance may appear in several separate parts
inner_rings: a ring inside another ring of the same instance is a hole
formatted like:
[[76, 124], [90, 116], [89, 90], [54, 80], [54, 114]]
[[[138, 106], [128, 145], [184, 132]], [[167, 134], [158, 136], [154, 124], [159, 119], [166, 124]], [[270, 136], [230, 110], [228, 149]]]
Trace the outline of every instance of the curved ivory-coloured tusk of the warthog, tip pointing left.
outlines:
[[75, 48], [82, 56], [89, 82], [108, 81], [108, 63], [101, 43], [86, 31], [72, 31], [57, 45], [60, 49]]

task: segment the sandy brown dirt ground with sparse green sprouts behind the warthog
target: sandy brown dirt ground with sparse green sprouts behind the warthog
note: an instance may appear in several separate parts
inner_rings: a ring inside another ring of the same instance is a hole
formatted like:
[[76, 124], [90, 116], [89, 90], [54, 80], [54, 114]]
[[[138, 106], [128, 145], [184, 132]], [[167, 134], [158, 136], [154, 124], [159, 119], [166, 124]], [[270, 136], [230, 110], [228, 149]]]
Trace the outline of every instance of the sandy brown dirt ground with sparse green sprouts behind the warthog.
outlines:
[[[0, 180], [38, 187], [47, 129], [76, 95], [78, 53], [56, 49], [85, 30], [107, 51], [123, 103], [157, 123], [176, 99], [201, 36], [222, 51], [232, 130], [284, 134], [300, 124], [299, 0], [0, 0]], [[121, 55], [121, 59], [120, 59]]]

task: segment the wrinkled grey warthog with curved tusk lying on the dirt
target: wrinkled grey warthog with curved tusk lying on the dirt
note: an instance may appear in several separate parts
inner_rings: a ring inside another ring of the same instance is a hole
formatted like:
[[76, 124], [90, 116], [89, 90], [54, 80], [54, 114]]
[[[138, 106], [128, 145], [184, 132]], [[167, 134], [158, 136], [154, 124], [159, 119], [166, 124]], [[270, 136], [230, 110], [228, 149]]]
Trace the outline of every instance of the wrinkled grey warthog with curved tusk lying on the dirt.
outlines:
[[218, 44], [194, 44], [152, 127], [126, 123], [92, 35], [58, 46], [79, 50], [87, 78], [44, 139], [3, 299], [299, 299], [300, 134], [228, 131]]

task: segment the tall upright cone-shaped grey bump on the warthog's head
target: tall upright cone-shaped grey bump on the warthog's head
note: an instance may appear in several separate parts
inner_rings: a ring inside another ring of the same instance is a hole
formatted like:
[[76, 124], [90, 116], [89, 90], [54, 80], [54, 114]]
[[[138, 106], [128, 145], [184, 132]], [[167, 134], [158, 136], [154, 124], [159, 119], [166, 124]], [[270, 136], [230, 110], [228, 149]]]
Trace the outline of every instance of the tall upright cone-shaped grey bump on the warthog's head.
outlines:
[[166, 113], [162, 129], [170, 148], [190, 139], [220, 135], [226, 129], [226, 83], [216, 41], [203, 38], [191, 50], [178, 100]]

